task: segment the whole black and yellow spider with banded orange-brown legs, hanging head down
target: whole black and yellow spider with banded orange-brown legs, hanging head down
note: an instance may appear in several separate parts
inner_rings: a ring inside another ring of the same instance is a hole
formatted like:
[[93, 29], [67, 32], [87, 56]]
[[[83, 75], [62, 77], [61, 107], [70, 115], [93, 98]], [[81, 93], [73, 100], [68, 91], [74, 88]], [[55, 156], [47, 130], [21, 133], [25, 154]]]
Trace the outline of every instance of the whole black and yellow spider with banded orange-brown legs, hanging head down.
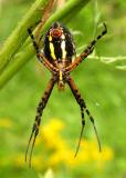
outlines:
[[[81, 117], [82, 117], [82, 129], [80, 134], [80, 139], [77, 144], [77, 148], [75, 151], [75, 157], [77, 155], [77, 151], [80, 149], [80, 144], [85, 126], [85, 118], [84, 112], [88, 116], [93, 127], [94, 131], [97, 138], [99, 151], [101, 151], [101, 142], [98, 138], [98, 134], [95, 127], [94, 118], [92, 117], [90, 110], [86, 107], [86, 103], [84, 99], [82, 98], [73, 78], [71, 77], [71, 71], [73, 71], [88, 55], [91, 55], [94, 50], [94, 47], [96, 42], [107, 32], [106, 24], [103, 23], [104, 30], [94, 39], [86, 49], [73, 60], [73, 57], [75, 56], [75, 46], [73, 42], [73, 37], [69, 29], [61, 24], [60, 22], [54, 22], [50, 29], [44, 34], [44, 41], [43, 41], [43, 51], [40, 48], [39, 43], [36, 42], [31, 28], [28, 29], [29, 36], [32, 39], [33, 47], [36, 52], [36, 57], [39, 61], [44, 65], [52, 73], [52, 77], [48, 83], [48, 87], [43, 93], [43, 97], [41, 98], [39, 106], [36, 108], [36, 116], [33, 123], [32, 132], [28, 142], [27, 151], [25, 151], [25, 161], [27, 161], [27, 155], [29, 151], [29, 147], [31, 145], [31, 151], [30, 151], [30, 158], [29, 158], [29, 166], [31, 167], [31, 158], [33, 152], [33, 147], [35, 144], [36, 136], [39, 134], [41, 117], [43, 113], [43, 110], [46, 106], [46, 102], [51, 96], [51, 92], [53, 90], [53, 87], [55, 83], [57, 83], [59, 90], [64, 90], [65, 85], [67, 83], [71, 88], [71, 91], [73, 96], [75, 97], [76, 102], [80, 106], [81, 109]], [[41, 41], [41, 37], [40, 40]]]

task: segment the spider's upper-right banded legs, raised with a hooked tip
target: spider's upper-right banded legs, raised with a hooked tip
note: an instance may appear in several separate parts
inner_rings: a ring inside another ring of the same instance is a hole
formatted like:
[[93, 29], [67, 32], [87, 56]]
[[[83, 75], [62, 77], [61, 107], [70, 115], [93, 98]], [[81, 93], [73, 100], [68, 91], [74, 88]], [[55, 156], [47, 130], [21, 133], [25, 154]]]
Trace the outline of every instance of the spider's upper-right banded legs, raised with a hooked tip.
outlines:
[[96, 37], [96, 39], [94, 39], [94, 40], [86, 47], [86, 49], [81, 53], [80, 57], [77, 57], [77, 58], [75, 59], [75, 61], [74, 61], [72, 65], [70, 65], [69, 67], [65, 68], [65, 71], [66, 71], [66, 72], [70, 72], [70, 71], [72, 71], [72, 70], [74, 70], [88, 55], [91, 55], [91, 53], [93, 52], [96, 42], [97, 42], [103, 36], [105, 36], [105, 34], [107, 33], [107, 27], [106, 27], [105, 23], [103, 23], [103, 24], [104, 24], [104, 30], [102, 31], [102, 33], [98, 34], [98, 36]]

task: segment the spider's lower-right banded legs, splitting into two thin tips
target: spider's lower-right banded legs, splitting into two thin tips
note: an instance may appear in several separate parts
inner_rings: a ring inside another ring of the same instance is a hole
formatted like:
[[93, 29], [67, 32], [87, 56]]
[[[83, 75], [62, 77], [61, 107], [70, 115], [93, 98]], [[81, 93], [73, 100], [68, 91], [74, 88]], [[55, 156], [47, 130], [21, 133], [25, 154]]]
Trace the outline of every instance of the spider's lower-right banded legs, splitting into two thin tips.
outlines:
[[101, 151], [101, 142], [99, 142], [98, 134], [97, 134], [97, 130], [96, 130], [96, 127], [95, 127], [94, 118], [90, 113], [90, 110], [87, 109], [84, 99], [81, 97], [81, 93], [80, 93], [77, 87], [75, 86], [74, 80], [71, 77], [67, 79], [67, 83], [69, 83], [69, 86], [72, 90], [72, 93], [74, 95], [77, 103], [80, 105], [81, 115], [82, 115], [82, 130], [81, 130], [81, 135], [80, 135], [80, 139], [78, 139], [78, 145], [77, 145], [77, 148], [76, 148], [76, 151], [75, 151], [75, 157], [76, 157], [76, 155], [78, 152], [78, 149], [80, 149], [80, 144], [81, 144], [81, 140], [82, 140], [82, 135], [83, 135], [83, 130], [84, 130], [84, 126], [85, 126], [84, 110], [87, 113], [87, 116], [88, 116], [88, 118], [90, 118], [90, 120], [93, 125], [93, 128], [94, 128], [94, 131], [95, 131], [95, 135], [96, 135], [96, 138], [97, 138], [97, 142], [98, 142], [99, 151]]

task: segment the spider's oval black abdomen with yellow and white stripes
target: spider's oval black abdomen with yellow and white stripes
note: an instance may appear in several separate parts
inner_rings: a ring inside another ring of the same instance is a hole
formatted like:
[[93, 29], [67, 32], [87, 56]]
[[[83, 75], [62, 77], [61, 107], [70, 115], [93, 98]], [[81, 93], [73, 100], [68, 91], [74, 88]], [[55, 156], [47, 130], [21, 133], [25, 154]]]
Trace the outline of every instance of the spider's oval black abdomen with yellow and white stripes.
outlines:
[[69, 60], [75, 55], [75, 47], [70, 31], [59, 22], [54, 22], [44, 37], [44, 56], [51, 62]]

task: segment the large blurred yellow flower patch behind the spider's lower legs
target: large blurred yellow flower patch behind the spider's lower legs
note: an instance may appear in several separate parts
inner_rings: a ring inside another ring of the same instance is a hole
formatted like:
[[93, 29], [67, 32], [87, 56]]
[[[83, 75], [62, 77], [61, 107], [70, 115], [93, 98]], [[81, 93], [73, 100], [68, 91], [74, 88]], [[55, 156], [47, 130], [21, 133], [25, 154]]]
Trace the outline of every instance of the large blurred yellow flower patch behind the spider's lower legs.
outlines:
[[74, 168], [82, 164], [96, 162], [97, 168], [102, 170], [104, 164], [113, 159], [114, 151], [111, 148], [103, 146], [102, 152], [99, 152], [96, 141], [85, 139], [82, 139], [77, 157], [74, 158], [78, 140], [76, 140], [74, 149], [71, 148], [67, 141], [61, 137], [63, 128], [64, 123], [60, 119], [51, 119], [40, 131], [38, 144], [42, 142], [48, 152], [48, 159], [44, 160], [46, 166], [56, 167], [63, 164], [69, 168]]

